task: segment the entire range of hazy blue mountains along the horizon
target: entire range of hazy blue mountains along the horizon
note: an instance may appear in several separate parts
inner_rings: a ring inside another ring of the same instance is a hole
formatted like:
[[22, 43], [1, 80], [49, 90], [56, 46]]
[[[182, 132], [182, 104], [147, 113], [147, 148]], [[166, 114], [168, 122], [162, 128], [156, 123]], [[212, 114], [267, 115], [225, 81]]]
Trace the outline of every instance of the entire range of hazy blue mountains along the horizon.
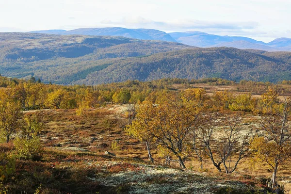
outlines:
[[232, 47], [237, 49], [259, 49], [266, 51], [291, 51], [291, 38], [278, 38], [272, 42], [264, 43], [243, 36], [220, 36], [205, 32], [171, 32], [166, 33], [152, 29], [126, 29], [126, 28], [80, 28], [70, 31], [47, 30], [32, 31], [32, 33], [47, 33], [60, 35], [110, 35], [143, 40], [162, 40], [178, 42], [189, 46], [211, 48]]

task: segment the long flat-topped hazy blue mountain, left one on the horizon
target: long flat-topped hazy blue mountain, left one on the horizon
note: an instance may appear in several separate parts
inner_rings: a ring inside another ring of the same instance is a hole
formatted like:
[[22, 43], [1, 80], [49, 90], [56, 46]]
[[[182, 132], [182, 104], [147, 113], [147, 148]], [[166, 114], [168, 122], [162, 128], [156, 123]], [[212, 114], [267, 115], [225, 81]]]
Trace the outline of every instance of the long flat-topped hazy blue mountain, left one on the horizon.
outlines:
[[54, 33], [62, 35], [104, 35], [104, 36], [124, 36], [127, 38], [143, 40], [163, 40], [168, 42], [177, 42], [166, 32], [152, 29], [126, 29], [126, 28], [80, 28], [70, 31], [52, 30], [52, 31], [33, 31], [33, 33]]

